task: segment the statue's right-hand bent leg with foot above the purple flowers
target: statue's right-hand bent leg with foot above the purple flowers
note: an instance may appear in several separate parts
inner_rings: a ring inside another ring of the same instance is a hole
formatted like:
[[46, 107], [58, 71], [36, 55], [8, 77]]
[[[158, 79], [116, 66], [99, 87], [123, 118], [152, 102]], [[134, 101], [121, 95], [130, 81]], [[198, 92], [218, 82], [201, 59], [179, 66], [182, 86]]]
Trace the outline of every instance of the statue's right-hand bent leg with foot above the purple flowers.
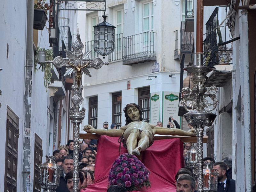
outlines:
[[148, 130], [143, 130], [140, 133], [138, 147], [136, 147], [132, 151], [132, 154], [136, 155], [136, 156], [140, 156], [140, 151], [147, 149], [149, 146], [149, 143], [153, 140], [153, 138], [154, 138], [154, 135], [152, 132], [150, 132]]

